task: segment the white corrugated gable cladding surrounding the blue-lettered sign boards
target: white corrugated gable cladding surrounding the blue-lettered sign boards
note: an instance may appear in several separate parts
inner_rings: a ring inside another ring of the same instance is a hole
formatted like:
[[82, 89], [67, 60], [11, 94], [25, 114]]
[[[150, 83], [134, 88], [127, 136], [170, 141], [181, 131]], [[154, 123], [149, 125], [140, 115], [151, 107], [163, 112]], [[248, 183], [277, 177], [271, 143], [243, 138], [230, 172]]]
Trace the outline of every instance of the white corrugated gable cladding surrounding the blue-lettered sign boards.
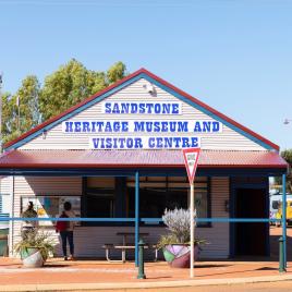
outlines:
[[[187, 105], [186, 102], [180, 101], [177, 97], [170, 95], [166, 90], [156, 87], [157, 96], [150, 96], [143, 87], [146, 84], [146, 80], [139, 80], [132, 85], [119, 90], [118, 93], [109, 96], [105, 101], [100, 101], [90, 108], [75, 114], [71, 120], [212, 120], [209, 115]], [[109, 114], [102, 112], [102, 102], [107, 101], [147, 101], [147, 102], [182, 102], [182, 114]], [[239, 109], [240, 110], [240, 109]], [[125, 133], [98, 133], [98, 136], [124, 136]], [[178, 136], [178, 133], [126, 133], [127, 136]], [[180, 136], [190, 136], [192, 133], [180, 133]], [[88, 149], [89, 148], [89, 136], [97, 136], [97, 133], [71, 133], [66, 134], [62, 132], [62, 124], [58, 124], [47, 132], [46, 139], [42, 135], [34, 138], [27, 144], [23, 145], [21, 149]], [[194, 133], [193, 133], [194, 136]], [[202, 149], [235, 149], [235, 150], [264, 150], [261, 146], [255, 142], [246, 138], [242, 134], [233, 131], [232, 129], [223, 125], [222, 133], [203, 133], [195, 134], [195, 136], [202, 137], [200, 147]]]

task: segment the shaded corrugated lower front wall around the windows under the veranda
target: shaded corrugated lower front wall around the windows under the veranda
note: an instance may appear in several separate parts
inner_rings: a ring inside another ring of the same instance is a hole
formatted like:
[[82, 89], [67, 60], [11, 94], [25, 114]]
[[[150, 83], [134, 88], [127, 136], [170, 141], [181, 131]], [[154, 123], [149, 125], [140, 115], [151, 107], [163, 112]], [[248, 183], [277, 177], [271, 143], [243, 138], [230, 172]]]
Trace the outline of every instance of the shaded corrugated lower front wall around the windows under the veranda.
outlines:
[[[14, 216], [20, 216], [20, 202], [23, 195], [34, 194], [81, 194], [81, 178], [15, 178], [14, 185]], [[58, 192], [58, 193], [57, 193]], [[228, 217], [224, 210], [224, 200], [229, 199], [229, 178], [211, 179], [211, 216]], [[21, 224], [14, 223], [13, 244], [20, 239]], [[56, 253], [61, 255], [60, 241], [58, 234], [52, 231], [56, 239]], [[101, 246], [105, 243], [119, 244], [122, 242], [121, 236], [117, 236], [117, 232], [131, 231], [133, 227], [77, 227], [74, 232], [75, 236], [75, 254], [82, 257], [99, 257], [105, 258], [105, 251]], [[145, 241], [155, 244], [159, 235], [167, 232], [162, 227], [143, 227], [141, 232], [149, 233]], [[210, 228], [197, 228], [196, 238], [205, 239], [208, 244], [204, 246], [202, 257], [205, 258], [227, 258], [229, 256], [229, 224], [212, 223]], [[133, 241], [134, 239], [132, 239]], [[151, 252], [147, 252], [148, 257], [153, 257]], [[113, 256], [120, 256], [114, 253]], [[132, 253], [133, 256], [133, 253]]]

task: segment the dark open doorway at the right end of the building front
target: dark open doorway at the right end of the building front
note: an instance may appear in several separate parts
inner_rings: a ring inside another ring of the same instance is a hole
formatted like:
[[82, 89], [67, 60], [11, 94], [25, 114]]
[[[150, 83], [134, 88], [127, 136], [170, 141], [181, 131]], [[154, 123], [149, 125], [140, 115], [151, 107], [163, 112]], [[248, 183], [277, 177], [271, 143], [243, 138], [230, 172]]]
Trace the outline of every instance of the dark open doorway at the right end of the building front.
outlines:
[[[266, 190], [236, 188], [235, 218], [267, 218]], [[267, 255], [268, 223], [235, 223], [235, 255]]]

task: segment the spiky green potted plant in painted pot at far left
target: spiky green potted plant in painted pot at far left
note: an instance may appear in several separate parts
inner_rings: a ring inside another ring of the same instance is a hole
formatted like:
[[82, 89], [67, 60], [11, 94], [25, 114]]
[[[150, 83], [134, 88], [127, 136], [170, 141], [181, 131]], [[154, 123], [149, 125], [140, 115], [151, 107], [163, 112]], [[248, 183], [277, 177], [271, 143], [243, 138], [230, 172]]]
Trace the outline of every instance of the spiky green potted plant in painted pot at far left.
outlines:
[[21, 241], [14, 245], [14, 251], [21, 255], [24, 267], [41, 267], [49, 254], [53, 253], [53, 240], [48, 232], [33, 228], [22, 234]]

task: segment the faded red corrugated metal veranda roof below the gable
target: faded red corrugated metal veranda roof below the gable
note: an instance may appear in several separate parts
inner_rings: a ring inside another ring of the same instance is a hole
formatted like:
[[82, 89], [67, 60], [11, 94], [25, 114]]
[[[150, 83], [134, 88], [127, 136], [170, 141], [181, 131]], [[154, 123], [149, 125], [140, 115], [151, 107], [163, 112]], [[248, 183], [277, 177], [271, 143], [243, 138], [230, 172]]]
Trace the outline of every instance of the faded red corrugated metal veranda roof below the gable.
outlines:
[[[182, 150], [12, 150], [0, 168], [183, 167]], [[287, 168], [275, 151], [202, 150], [202, 168]]]

